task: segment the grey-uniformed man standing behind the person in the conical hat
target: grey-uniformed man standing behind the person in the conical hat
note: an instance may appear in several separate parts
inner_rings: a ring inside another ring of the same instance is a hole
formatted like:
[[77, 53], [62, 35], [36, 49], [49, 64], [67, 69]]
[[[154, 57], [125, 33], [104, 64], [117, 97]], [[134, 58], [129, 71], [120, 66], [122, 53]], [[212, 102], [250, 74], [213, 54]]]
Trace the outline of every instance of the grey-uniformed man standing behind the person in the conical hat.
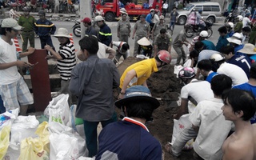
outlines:
[[[134, 41], [134, 57], [138, 54], [138, 40], [143, 37], [149, 38], [150, 36], [150, 23], [146, 22], [146, 15], [142, 14], [140, 16], [140, 20], [135, 23], [134, 32], [133, 32], [133, 39]], [[136, 33], [136, 37], [135, 37]]]

